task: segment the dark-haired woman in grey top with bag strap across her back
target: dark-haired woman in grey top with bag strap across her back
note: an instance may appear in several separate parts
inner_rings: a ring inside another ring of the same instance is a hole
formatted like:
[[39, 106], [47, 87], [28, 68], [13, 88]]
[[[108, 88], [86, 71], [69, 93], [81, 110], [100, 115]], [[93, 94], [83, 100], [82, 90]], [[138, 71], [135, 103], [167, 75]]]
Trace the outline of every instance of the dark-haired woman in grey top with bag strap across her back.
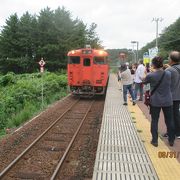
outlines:
[[153, 72], [149, 73], [144, 84], [150, 83], [150, 114], [151, 114], [151, 144], [158, 146], [158, 121], [162, 109], [165, 122], [169, 132], [169, 145], [174, 144], [174, 124], [173, 124], [173, 100], [171, 94], [171, 73], [164, 71], [163, 59], [156, 56], [152, 59]]

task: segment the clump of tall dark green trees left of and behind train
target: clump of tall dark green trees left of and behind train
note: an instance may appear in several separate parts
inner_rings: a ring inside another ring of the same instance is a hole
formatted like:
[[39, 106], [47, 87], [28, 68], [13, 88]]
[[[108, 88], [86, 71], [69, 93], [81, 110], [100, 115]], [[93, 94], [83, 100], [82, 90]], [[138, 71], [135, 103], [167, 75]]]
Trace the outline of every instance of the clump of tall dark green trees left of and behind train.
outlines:
[[20, 19], [14, 14], [6, 21], [0, 35], [0, 70], [32, 72], [41, 57], [48, 70], [65, 68], [69, 50], [85, 44], [101, 47], [96, 28], [95, 23], [87, 28], [78, 18], [73, 20], [64, 7], [56, 10], [47, 7], [38, 16], [26, 12]]

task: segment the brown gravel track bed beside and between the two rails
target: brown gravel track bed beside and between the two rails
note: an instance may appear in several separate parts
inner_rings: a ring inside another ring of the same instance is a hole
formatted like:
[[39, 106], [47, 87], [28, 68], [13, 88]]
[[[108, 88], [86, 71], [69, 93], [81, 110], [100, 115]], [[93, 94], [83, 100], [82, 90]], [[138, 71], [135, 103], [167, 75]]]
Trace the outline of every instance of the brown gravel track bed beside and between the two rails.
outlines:
[[[104, 99], [98, 99], [98, 103], [96, 103], [92, 108], [91, 113], [87, 118], [87, 122], [83, 124], [84, 127], [82, 128], [80, 135], [78, 135], [79, 137], [77, 138], [77, 141], [73, 144], [72, 150], [67, 156], [65, 164], [61, 168], [62, 171], [60, 171], [60, 175], [57, 177], [57, 179], [88, 180], [92, 178], [104, 107]], [[54, 122], [64, 112], [64, 110], [70, 106], [70, 104], [73, 104], [76, 100], [77, 98], [69, 96], [58, 101], [46, 111], [33, 118], [33, 120], [30, 120], [28, 123], [23, 125], [18, 131], [2, 139], [0, 141], [0, 171], [2, 171], [12, 160], [14, 160], [17, 155], [19, 155], [52, 122]], [[71, 114], [70, 111], [68, 113], [68, 117], [66, 117], [66, 123], [63, 124], [63, 126], [58, 124], [56, 125], [55, 129], [57, 128], [60, 130], [60, 132], [57, 133], [57, 136], [55, 133], [53, 136], [47, 136], [42, 145], [37, 146], [37, 149], [34, 149], [30, 154], [24, 156], [25, 164], [23, 165], [23, 163], [19, 163], [19, 167], [24, 167], [23, 169], [25, 170], [26, 174], [19, 171], [20, 168], [18, 169], [17, 166], [15, 169], [15, 172], [17, 172], [17, 178], [15, 178], [16, 175], [14, 176], [13, 174], [13, 176], [11, 176], [10, 174], [8, 179], [20, 179], [20, 177], [27, 178], [28, 172], [30, 179], [32, 179], [31, 177], [36, 177], [37, 179], [46, 179], [47, 177], [43, 177], [41, 172], [47, 172], [48, 174], [55, 167], [55, 164], [57, 164], [57, 159], [60, 157], [58, 153], [53, 152], [54, 161], [47, 160], [46, 162], [46, 159], [51, 159], [49, 151], [52, 150], [52, 147], [58, 147], [57, 149], [53, 149], [53, 151], [57, 150], [58, 152], [60, 149], [63, 149], [63, 144], [67, 145], [67, 142], [70, 139], [68, 134], [73, 133], [76, 124], [78, 124], [78, 119], [80, 119], [82, 116], [82, 111], [79, 109], [83, 109], [83, 107], [73, 111], [73, 113], [77, 115], [73, 122], [73, 114]], [[33, 154], [36, 154], [36, 157], [38, 157], [38, 161], [36, 161], [37, 164], [32, 163], [34, 162]], [[29, 164], [27, 166], [28, 168], [25, 167], [27, 164]]]

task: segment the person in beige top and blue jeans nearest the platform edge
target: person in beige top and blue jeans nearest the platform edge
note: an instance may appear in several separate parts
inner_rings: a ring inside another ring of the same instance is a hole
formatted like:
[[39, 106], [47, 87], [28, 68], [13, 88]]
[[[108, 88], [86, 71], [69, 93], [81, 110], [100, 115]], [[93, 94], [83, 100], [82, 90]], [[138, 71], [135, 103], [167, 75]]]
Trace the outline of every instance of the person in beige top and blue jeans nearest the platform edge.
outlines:
[[131, 95], [133, 105], [135, 105], [136, 102], [135, 102], [135, 97], [134, 97], [134, 93], [133, 93], [133, 89], [132, 89], [133, 79], [131, 76], [131, 71], [130, 71], [130, 69], [127, 68], [126, 64], [121, 65], [120, 71], [119, 71], [119, 76], [121, 77], [121, 82], [123, 85], [123, 99], [124, 99], [123, 105], [127, 105], [127, 93], [128, 93], [128, 91]]

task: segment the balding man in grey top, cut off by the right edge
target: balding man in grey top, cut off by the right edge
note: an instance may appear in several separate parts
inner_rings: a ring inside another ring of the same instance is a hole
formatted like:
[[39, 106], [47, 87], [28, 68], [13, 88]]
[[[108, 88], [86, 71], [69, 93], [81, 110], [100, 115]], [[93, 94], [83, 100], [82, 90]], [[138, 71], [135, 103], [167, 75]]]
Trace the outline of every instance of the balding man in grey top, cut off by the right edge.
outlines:
[[[180, 139], [180, 52], [172, 51], [169, 55], [166, 71], [171, 72], [171, 92], [173, 98], [173, 120], [176, 138]], [[167, 126], [167, 125], [166, 125]], [[168, 132], [163, 137], [168, 137]]]

